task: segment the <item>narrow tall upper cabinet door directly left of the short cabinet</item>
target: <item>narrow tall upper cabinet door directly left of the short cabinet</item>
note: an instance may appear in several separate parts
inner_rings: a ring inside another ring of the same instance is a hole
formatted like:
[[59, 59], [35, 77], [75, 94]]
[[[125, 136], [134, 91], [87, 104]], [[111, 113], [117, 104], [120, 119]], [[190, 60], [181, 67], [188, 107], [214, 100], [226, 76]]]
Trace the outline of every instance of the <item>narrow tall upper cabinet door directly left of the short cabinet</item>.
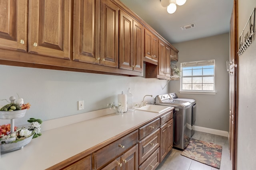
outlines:
[[132, 68], [134, 71], [143, 72], [143, 25], [133, 21], [133, 48], [132, 48]]

